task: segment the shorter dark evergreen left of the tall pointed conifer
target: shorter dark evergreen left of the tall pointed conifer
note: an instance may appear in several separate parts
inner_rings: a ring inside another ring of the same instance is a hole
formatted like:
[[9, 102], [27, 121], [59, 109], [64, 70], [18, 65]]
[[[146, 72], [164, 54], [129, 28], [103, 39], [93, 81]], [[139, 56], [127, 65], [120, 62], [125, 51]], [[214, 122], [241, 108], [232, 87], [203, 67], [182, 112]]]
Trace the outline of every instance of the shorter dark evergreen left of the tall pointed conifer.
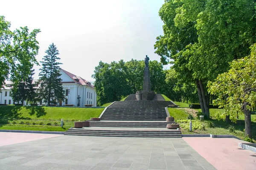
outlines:
[[19, 74], [18, 79], [20, 79], [20, 81], [12, 87], [12, 99], [15, 102], [21, 101], [23, 105], [24, 101], [33, 101], [35, 99], [36, 92], [32, 85], [32, 76], [35, 74], [34, 71], [34, 69], [31, 70], [29, 77], [22, 73]]

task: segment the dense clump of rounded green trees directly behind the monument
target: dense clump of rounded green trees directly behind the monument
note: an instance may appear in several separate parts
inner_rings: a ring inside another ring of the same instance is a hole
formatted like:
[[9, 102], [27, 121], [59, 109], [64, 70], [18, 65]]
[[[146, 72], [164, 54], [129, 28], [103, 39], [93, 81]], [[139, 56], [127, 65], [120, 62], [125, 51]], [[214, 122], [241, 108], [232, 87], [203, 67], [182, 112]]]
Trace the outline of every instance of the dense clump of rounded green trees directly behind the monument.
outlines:
[[[131, 61], [103, 63], [95, 67], [92, 77], [97, 93], [97, 102], [103, 105], [107, 102], [118, 101], [122, 96], [135, 94], [143, 90], [144, 61]], [[151, 90], [162, 93], [165, 90], [165, 72], [163, 65], [157, 61], [149, 62], [151, 74]]]

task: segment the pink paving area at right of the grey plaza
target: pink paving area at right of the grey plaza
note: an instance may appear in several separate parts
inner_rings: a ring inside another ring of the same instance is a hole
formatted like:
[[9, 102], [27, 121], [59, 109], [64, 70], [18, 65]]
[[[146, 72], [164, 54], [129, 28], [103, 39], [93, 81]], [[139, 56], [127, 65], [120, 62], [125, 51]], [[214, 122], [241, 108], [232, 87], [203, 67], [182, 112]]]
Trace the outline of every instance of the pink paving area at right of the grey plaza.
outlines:
[[218, 170], [256, 170], [256, 153], [241, 149], [234, 138], [183, 137]]

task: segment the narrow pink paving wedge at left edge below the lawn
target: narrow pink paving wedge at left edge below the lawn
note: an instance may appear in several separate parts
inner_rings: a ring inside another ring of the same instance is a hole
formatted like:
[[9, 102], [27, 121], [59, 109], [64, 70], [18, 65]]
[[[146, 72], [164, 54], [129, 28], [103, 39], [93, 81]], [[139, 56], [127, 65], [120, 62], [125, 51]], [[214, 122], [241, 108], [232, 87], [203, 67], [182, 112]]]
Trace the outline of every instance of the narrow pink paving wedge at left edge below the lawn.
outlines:
[[60, 136], [59, 134], [0, 132], [0, 146]]

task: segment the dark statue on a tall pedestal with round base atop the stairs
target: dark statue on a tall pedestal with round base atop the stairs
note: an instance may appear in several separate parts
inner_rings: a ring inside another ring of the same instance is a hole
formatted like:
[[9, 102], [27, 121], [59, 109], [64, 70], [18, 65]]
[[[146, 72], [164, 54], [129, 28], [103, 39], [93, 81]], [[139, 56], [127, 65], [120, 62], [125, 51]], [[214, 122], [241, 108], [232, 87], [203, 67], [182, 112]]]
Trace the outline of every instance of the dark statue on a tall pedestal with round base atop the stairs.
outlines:
[[150, 85], [150, 72], [149, 72], [149, 65], [148, 65], [149, 57], [146, 55], [144, 62], [144, 77], [143, 77], [143, 91], [136, 92], [136, 100], [153, 100], [154, 99], [154, 91], [151, 91]]

